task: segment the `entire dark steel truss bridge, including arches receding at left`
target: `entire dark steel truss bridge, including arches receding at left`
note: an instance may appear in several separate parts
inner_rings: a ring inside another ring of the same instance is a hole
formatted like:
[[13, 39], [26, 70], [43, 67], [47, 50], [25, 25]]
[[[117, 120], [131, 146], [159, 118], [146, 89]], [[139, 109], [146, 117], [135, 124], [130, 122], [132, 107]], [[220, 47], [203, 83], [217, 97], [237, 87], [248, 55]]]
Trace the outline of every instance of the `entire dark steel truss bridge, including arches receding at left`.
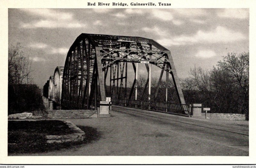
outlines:
[[[145, 65], [148, 75], [140, 100], [138, 64]], [[151, 94], [152, 66], [161, 70], [154, 95]], [[156, 101], [164, 72], [165, 101]], [[178, 103], [168, 100], [169, 75]], [[131, 87], [127, 87], [128, 77], [133, 78]], [[189, 113], [171, 52], [154, 40], [142, 37], [82, 33], [71, 45], [64, 67], [57, 67], [54, 76], [44, 85], [44, 96], [62, 109], [91, 109], [97, 107], [100, 100], [111, 97], [115, 105]]]

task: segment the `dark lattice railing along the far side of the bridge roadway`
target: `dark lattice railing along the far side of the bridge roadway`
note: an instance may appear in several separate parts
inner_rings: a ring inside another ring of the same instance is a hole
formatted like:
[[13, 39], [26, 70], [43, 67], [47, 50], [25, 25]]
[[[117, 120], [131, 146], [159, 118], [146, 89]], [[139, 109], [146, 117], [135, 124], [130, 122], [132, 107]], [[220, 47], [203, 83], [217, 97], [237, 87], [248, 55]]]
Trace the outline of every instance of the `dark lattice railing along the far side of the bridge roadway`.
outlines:
[[[167, 113], [175, 113], [180, 115], [190, 114], [189, 104], [178, 104], [178, 103], [166, 103], [166, 102], [156, 102], [147, 100], [122, 100], [122, 99], [112, 99], [113, 105], [135, 107], [141, 109], [150, 109], [154, 111], [161, 111]], [[185, 112], [185, 113], [183, 113]], [[185, 116], [188, 116], [185, 115]]]

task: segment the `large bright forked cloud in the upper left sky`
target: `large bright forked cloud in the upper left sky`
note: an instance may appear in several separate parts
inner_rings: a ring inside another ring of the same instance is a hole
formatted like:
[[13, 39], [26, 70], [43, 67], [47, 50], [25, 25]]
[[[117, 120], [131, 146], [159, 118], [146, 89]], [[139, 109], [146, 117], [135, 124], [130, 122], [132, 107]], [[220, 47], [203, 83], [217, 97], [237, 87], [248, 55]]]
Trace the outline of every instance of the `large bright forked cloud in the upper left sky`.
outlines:
[[22, 28], [81, 28], [85, 24], [79, 23], [73, 18], [73, 14], [58, 12], [52, 9], [21, 9], [31, 15], [40, 16], [43, 19], [33, 20], [30, 23], [21, 22]]

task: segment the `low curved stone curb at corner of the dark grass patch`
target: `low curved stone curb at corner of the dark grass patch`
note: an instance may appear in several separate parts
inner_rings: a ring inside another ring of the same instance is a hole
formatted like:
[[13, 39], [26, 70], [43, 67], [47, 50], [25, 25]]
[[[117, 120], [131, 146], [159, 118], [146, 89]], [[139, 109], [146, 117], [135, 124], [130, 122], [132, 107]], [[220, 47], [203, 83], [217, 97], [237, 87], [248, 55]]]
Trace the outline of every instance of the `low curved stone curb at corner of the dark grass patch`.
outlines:
[[47, 143], [61, 143], [61, 142], [70, 142], [70, 141], [82, 141], [85, 138], [85, 133], [78, 128], [75, 124], [71, 123], [70, 121], [64, 121], [65, 124], [72, 130], [74, 133], [68, 135], [46, 135], [45, 138], [47, 139]]

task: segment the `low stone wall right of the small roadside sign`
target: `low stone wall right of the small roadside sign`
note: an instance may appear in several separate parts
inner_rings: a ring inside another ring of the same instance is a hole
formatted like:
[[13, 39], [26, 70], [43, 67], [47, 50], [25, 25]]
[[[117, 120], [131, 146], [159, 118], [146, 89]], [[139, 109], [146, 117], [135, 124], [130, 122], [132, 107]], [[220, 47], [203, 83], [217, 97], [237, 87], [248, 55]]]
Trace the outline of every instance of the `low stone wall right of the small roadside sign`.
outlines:
[[245, 120], [245, 114], [207, 113], [207, 117], [221, 120]]

